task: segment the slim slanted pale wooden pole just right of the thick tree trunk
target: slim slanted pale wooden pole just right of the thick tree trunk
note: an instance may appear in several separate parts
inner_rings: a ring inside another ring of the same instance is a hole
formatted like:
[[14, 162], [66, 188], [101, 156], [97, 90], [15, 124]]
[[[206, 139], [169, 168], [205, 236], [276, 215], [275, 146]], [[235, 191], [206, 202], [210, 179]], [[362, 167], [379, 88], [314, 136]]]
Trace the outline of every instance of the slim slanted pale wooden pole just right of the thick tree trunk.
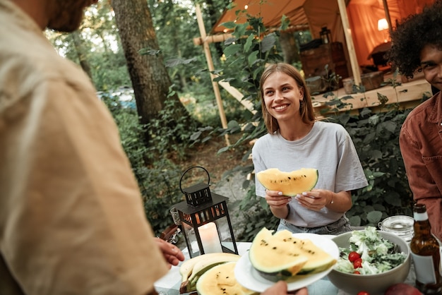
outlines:
[[[218, 111], [220, 112], [220, 119], [221, 119], [222, 128], [227, 128], [227, 119], [226, 119], [226, 115], [224, 112], [224, 107], [222, 107], [220, 88], [218, 87], [218, 84], [213, 80], [215, 78], [215, 75], [213, 75], [212, 72], [215, 71], [215, 67], [213, 66], [212, 54], [210, 54], [209, 44], [206, 40], [207, 35], [205, 34], [203, 15], [201, 13], [201, 8], [200, 8], [199, 4], [196, 4], [195, 8], [196, 8], [196, 20], [198, 21], [198, 28], [200, 29], [201, 40], [203, 42], [203, 49], [204, 49], [205, 59], [207, 61], [207, 65], [208, 65], [208, 69], [209, 69], [210, 80], [212, 81], [213, 92], [215, 93], [215, 99], [216, 99], [216, 102], [218, 105]], [[225, 140], [226, 140], [227, 145], [230, 145], [229, 136], [227, 134], [225, 135]]]

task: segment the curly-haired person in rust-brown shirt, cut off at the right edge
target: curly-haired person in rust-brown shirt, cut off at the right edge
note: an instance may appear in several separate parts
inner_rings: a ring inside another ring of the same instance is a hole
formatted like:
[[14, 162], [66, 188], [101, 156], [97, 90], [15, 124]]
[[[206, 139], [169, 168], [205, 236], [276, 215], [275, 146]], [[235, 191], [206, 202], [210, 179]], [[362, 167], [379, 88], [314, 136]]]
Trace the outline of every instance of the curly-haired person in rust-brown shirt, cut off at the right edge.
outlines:
[[[391, 34], [389, 61], [407, 78], [424, 73], [431, 86], [442, 90], [442, 1], [408, 16]], [[417, 203], [424, 203], [431, 231], [442, 241], [442, 98], [441, 92], [419, 104], [400, 131], [400, 151]]]

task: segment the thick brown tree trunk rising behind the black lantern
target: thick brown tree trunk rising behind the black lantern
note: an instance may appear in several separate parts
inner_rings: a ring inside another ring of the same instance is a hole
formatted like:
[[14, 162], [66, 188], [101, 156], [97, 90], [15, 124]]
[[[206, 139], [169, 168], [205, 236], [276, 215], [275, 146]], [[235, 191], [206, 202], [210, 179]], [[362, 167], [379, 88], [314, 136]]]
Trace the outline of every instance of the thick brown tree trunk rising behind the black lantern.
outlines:
[[[163, 109], [171, 81], [153, 28], [148, 2], [145, 0], [112, 0], [121, 44], [126, 56], [133, 93], [141, 124], [148, 124]], [[141, 54], [143, 49], [147, 54]], [[169, 99], [179, 102], [178, 95]], [[181, 103], [178, 112], [189, 116]], [[146, 138], [148, 143], [148, 138]]]

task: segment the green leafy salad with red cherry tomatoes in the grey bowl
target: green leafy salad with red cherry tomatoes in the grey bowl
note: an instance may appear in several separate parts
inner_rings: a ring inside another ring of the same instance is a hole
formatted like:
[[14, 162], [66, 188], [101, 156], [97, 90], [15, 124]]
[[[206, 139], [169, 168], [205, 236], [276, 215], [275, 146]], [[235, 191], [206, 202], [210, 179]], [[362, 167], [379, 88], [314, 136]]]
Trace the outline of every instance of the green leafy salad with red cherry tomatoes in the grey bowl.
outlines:
[[376, 227], [353, 231], [350, 248], [339, 248], [340, 258], [335, 270], [358, 275], [374, 275], [400, 265], [407, 257], [394, 243], [378, 233]]

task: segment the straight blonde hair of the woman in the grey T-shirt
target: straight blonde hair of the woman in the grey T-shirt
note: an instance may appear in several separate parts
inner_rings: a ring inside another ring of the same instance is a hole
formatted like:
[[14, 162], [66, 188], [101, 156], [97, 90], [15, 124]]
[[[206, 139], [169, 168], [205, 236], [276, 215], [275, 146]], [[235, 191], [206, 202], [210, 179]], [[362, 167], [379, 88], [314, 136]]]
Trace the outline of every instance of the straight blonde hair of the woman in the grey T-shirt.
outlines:
[[263, 75], [261, 76], [261, 80], [259, 81], [259, 90], [261, 95], [261, 108], [263, 111], [263, 119], [265, 123], [265, 127], [267, 127], [267, 131], [270, 134], [275, 133], [275, 131], [279, 130], [280, 126], [277, 124], [276, 119], [269, 114], [267, 107], [265, 107], [264, 102], [264, 90], [263, 85], [267, 78], [276, 72], [285, 73], [286, 75], [292, 77], [299, 88], [304, 89], [304, 99], [299, 105], [299, 113], [301, 114], [301, 119], [305, 124], [312, 124], [316, 121], [315, 113], [313, 112], [313, 104], [311, 104], [311, 97], [309, 93], [309, 89], [306, 87], [306, 83], [304, 78], [302, 78], [301, 74], [294, 66], [290, 64], [278, 63], [271, 64], [267, 68], [265, 68]]

